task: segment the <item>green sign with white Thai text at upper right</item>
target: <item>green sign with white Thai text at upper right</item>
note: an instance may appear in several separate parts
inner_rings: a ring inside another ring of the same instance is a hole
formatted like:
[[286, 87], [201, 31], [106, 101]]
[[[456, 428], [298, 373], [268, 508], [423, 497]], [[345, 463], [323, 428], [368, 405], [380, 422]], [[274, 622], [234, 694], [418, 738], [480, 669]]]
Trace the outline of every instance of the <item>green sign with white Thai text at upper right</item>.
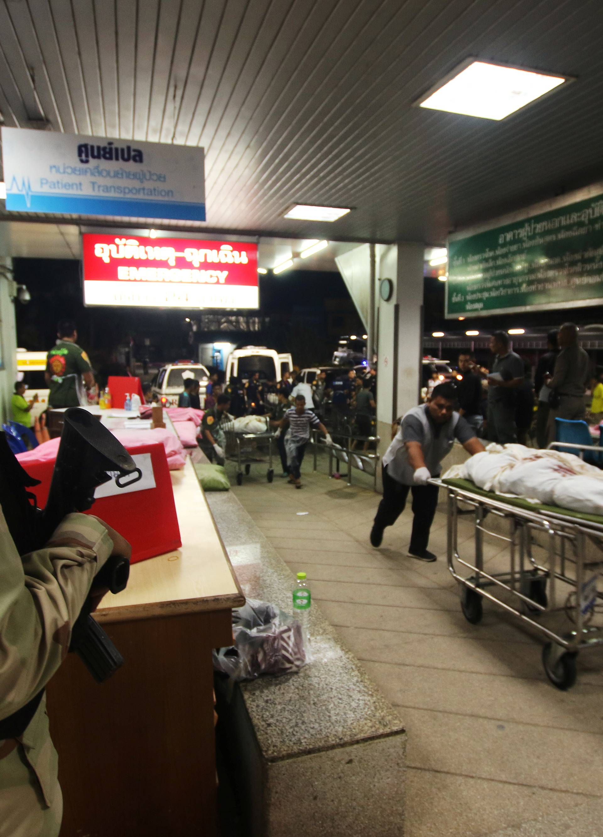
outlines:
[[446, 317], [603, 303], [603, 195], [448, 243]]

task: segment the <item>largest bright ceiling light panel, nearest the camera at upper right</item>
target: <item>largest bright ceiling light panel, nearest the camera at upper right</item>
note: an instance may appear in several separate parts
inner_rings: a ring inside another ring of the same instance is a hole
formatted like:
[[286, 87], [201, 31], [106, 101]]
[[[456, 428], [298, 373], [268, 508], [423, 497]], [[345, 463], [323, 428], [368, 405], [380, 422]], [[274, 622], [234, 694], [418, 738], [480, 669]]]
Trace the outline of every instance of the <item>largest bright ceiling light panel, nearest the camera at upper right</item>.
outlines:
[[471, 58], [463, 61], [415, 104], [432, 110], [501, 120], [568, 81], [571, 79], [566, 75]]

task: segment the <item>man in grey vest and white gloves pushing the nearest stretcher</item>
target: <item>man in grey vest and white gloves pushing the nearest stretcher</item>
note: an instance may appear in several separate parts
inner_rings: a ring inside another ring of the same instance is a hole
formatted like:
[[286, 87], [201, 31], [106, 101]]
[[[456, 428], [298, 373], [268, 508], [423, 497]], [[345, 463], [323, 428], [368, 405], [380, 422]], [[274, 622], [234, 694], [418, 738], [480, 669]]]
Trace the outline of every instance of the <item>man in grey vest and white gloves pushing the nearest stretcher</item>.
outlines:
[[374, 547], [381, 546], [385, 526], [394, 526], [412, 491], [414, 519], [408, 555], [419, 561], [436, 560], [427, 545], [438, 487], [428, 485], [428, 480], [440, 475], [441, 460], [450, 452], [455, 439], [471, 455], [484, 450], [475, 430], [454, 412], [455, 402], [454, 384], [441, 383], [434, 388], [428, 403], [411, 408], [402, 419], [382, 460], [384, 494], [370, 533]]

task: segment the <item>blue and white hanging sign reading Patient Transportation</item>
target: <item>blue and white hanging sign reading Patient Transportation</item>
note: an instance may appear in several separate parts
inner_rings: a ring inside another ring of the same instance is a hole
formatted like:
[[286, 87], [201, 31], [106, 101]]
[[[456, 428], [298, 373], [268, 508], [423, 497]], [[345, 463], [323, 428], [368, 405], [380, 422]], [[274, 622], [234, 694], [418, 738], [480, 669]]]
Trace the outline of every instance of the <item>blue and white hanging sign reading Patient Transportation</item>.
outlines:
[[205, 220], [204, 150], [3, 128], [13, 212]]

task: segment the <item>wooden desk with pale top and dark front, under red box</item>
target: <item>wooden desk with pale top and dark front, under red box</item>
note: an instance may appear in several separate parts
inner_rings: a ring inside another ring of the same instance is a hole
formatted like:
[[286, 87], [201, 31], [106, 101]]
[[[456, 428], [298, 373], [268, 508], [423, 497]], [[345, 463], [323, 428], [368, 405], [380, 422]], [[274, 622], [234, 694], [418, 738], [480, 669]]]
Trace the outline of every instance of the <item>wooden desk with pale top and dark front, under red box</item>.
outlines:
[[96, 614], [125, 664], [98, 686], [70, 654], [49, 684], [61, 837], [216, 831], [211, 650], [245, 598], [189, 460], [172, 480], [183, 546], [134, 564]]

